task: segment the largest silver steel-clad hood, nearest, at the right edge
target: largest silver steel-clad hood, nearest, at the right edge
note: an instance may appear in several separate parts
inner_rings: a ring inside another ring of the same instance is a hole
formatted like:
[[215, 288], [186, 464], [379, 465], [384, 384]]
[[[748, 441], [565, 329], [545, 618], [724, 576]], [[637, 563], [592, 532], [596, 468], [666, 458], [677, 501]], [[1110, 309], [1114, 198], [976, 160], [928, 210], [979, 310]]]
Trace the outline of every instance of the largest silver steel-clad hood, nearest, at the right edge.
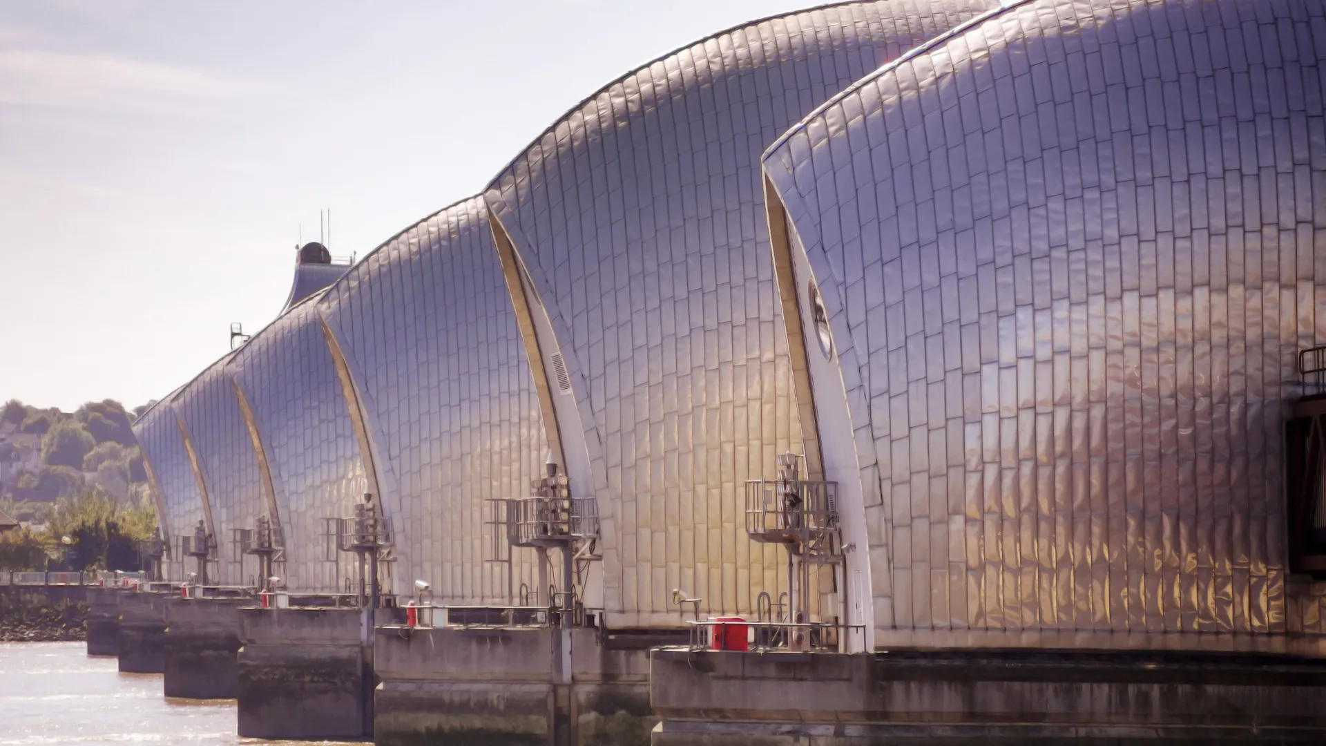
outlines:
[[1323, 56], [1315, 1], [1022, 3], [769, 150], [878, 465], [876, 628], [1323, 632], [1281, 485]]

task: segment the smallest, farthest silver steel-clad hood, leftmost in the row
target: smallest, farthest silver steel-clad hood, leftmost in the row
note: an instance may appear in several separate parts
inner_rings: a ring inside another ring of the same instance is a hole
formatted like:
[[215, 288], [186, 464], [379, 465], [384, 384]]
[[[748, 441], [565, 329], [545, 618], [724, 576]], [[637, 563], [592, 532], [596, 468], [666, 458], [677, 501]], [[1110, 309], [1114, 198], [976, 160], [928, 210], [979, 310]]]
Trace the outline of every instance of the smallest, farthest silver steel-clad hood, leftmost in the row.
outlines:
[[170, 580], [184, 580], [184, 573], [194, 571], [192, 560], [182, 556], [174, 542], [179, 536], [192, 536], [194, 526], [203, 520], [203, 498], [171, 408], [178, 393], [156, 402], [134, 421], [134, 437], [151, 469], [152, 490], [159, 492], [156, 519], [164, 528], [163, 534], [172, 540], [170, 561], [163, 563]]

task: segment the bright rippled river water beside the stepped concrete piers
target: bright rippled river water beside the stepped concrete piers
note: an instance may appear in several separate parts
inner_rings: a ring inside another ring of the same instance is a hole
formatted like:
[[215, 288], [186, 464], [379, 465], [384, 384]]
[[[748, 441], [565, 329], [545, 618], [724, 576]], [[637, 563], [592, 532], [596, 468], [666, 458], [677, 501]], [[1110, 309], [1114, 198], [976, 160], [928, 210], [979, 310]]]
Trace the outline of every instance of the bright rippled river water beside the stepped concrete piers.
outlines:
[[233, 700], [166, 700], [160, 674], [118, 665], [85, 642], [0, 642], [0, 746], [309, 743], [240, 738]]

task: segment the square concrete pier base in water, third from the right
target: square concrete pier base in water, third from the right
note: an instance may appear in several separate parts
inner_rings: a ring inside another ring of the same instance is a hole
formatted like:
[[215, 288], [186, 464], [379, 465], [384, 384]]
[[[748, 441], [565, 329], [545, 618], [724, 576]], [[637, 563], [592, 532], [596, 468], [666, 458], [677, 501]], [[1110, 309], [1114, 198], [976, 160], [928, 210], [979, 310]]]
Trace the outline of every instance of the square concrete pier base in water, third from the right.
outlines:
[[239, 609], [239, 734], [359, 739], [373, 731], [373, 648], [359, 609]]

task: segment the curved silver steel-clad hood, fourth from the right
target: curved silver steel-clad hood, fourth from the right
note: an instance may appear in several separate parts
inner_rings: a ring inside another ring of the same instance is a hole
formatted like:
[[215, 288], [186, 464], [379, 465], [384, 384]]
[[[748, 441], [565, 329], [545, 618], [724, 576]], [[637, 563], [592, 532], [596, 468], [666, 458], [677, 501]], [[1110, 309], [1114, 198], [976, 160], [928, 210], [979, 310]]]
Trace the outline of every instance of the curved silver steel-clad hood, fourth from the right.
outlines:
[[350, 515], [370, 491], [314, 299], [273, 321], [229, 364], [267, 450], [286, 547], [282, 580], [296, 591], [343, 588], [354, 577], [334, 542], [329, 551], [324, 519]]

